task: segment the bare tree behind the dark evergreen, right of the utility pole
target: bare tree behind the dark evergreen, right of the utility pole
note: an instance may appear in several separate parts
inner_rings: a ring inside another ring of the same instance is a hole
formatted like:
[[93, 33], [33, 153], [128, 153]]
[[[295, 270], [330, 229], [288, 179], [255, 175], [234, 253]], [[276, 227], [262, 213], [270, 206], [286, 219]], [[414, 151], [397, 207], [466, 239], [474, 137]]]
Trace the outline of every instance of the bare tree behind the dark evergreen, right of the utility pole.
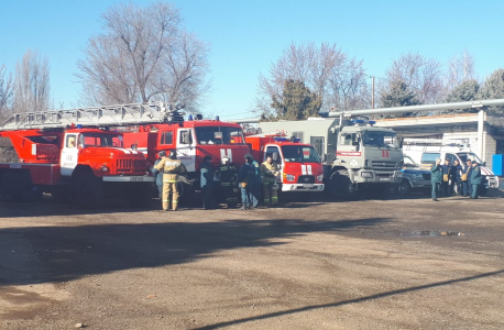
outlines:
[[388, 94], [393, 86], [405, 84], [420, 103], [436, 103], [442, 100], [442, 65], [418, 53], [407, 53], [393, 61], [386, 77], [380, 84], [380, 95]]

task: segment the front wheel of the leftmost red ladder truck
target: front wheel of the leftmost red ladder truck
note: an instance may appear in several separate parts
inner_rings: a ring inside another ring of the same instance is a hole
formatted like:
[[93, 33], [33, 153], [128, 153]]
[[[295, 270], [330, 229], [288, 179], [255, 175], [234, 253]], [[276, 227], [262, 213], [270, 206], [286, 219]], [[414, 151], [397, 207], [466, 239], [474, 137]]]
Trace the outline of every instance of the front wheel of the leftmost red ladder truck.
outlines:
[[99, 208], [105, 204], [103, 184], [92, 173], [80, 173], [74, 178], [74, 195], [85, 208]]

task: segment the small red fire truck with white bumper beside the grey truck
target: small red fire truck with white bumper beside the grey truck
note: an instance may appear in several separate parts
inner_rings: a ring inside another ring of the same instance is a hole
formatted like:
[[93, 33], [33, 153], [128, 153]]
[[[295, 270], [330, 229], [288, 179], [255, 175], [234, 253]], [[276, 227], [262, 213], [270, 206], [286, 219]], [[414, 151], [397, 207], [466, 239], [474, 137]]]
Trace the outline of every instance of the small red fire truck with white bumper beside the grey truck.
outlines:
[[287, 139], [281, 131], [246, 135], [245, 141], [256, 161], [272, 156], [278, 164], [282, 174], [277, 183], [282, 191], [324, 191], [324, 167], [310, 144]]

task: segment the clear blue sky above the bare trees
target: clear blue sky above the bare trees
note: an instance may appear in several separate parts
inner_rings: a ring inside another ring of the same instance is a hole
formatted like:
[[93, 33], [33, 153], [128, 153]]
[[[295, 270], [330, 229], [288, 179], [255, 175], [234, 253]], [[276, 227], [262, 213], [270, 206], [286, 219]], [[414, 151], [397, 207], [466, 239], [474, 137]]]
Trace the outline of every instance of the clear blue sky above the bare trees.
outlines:
[[[78, 107], [74, 74], [100, 14], [117, 0], [0, 0], [0, 65], [15, 70], [29, 50], [51, 66], [52, 105]], [[132, 1], [149, 4], [152, 1]], [[260, 73], [291, 43], [336, 43], [383, 76], [401, 54], [418, 52], [442, 64], [465, 50], [480, 78], [504, 67], [504, 1], [229, 1], [173, 0], [184, 26], [210, 45], [212, 89], [204, 113], [246, 118]]]

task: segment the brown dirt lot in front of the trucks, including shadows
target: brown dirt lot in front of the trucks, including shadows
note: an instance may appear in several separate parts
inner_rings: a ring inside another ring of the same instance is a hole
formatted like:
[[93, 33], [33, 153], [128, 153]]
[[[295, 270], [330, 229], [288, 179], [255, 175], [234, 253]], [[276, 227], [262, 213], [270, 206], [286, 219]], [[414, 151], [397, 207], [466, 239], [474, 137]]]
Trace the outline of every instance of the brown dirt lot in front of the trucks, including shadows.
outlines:
[[504, 329], [501, 195], [0, 204], [0, 329]]

